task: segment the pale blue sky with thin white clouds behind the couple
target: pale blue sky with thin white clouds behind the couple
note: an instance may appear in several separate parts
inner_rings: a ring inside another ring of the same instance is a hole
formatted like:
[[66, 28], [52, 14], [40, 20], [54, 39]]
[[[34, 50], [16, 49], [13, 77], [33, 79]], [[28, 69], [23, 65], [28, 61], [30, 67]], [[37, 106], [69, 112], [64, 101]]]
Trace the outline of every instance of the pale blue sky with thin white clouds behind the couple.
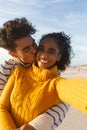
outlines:
[[[72, 64], [87, 64], [87, 0], [0, 0], [0, 27], [4, 22], [26, 17], [42, 34], [64, 31], [71, 37]], [[0, 62], [8, 58], [0, 49]]]

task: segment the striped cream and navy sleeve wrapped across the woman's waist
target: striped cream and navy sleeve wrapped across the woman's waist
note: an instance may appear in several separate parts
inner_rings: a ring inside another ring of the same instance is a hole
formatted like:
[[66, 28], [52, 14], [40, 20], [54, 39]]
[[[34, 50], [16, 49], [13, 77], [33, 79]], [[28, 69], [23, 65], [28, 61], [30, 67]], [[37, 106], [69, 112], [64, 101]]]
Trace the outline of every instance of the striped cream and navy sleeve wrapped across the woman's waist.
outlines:
[[43, 114], [39, 115], [29, 124], [36, 130], [53, 130], [58, 127], [65, 118], [69, 109], [69, 105], [61, 102], [60, 104], [51, 107]]

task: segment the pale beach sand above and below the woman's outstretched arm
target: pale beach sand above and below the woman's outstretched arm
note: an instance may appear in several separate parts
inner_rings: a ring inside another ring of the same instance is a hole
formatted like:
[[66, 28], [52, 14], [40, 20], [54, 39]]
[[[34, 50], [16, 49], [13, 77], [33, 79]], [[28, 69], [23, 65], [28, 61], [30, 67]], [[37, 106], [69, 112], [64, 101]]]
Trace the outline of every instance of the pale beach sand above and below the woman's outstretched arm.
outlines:
[[[87, 78], [87, 66], [70, 67], [62, 73], [62, 76]], [[62, 124], [55, 130], [87, 130], [87, 115], [70, 107]]]

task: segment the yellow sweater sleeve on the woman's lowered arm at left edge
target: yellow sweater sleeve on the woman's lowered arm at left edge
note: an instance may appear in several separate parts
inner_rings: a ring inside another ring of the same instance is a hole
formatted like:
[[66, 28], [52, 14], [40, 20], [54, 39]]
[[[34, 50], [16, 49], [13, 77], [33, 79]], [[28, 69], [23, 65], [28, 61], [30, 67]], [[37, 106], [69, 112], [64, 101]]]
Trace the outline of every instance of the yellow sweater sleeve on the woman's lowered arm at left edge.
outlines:
[[0, 130], [13, 130], [16, 128], [10, 113], [10, 94], [14, 86], [14, 77], [11, 76], [0, 97]]

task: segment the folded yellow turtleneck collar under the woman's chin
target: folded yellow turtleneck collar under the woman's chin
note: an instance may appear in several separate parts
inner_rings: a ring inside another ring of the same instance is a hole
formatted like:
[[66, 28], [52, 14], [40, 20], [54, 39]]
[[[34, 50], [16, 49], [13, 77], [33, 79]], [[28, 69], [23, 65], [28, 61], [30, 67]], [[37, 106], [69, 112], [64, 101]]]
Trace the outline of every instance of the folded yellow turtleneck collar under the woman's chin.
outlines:
[[33, 73], [31, 76], [35, 78], [37, 81], [45, 81], [50, 78], [58, 77], [58, 68], [54, 66], [50, 69], [41, 69], [38, 68], [35, 64], [32, 65]]

